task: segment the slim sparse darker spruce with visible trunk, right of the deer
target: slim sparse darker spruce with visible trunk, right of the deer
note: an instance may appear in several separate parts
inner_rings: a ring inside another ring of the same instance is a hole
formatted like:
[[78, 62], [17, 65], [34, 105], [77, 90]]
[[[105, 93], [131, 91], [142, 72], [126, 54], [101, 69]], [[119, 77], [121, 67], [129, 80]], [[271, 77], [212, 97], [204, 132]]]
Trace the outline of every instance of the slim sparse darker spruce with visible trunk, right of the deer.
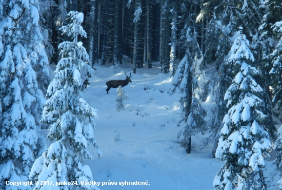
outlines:
[[185, 126], [178, 132], [178, 138], [183, 137], [180, 145], [189, 154], [191, 151], [191, 136], [206, 130], [206, 122], [203, 119], [206, 111], [200, 105], [195, 94], [195, 90], [199, 90], [202, 87], [198, 83], [204, 83], [205, 72], [200, 70], [203, 56], [197, 43], [197, 34], [194, 28], [187, 27], [186, 25], [183, 32], [186, 32], [182, 39], [186, 39], [187, 51], [172, 79], [170, 94], [173, 94], [177, 88], [179, 88], [179, 93], [182, 93], [179, 102], [180, 109], [185, 113]]

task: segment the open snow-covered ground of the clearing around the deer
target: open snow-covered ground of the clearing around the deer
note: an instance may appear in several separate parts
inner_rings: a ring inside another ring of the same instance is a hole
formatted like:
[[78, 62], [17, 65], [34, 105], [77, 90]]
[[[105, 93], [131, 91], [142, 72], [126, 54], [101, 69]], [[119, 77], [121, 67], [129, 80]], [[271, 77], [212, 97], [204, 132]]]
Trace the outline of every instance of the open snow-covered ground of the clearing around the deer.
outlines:
[[[213, 179], [224, 163], [211, 157], [212, 146], [199, 150], [208, 134], [192, 137], [191, 154], [179, 147], [177, 132], [181, 126], [177, 124], [183, 117], [179, 114], [180, 94], [169, 96], [171, 79], [160, 73], [159, 65], [153, 65], [152, 69], [137, 69], [133, 74], [132, 83], [124, 87], [129, 100], [120, 111], [116, 110], [117, 88], [107, 94], [105, 83], [124, 80], [123, 71], [129, 73], [131, 65], [95, 66], [96, 73], [84, 91], [84, 99], [98, 110], [94, 135], [103, 154], [99, 160], [93, 148], [95, 160], [85, 162], [91, 167], [93, 180], [100, 182], [101, 190], [214, 189]], [[267, 162], [265, 177], [272, 181], [270, 185], [279, 179], [277, 174], [273, 179], [274, 174], [274, 165]], [[130, 185], [119, 185], [125, 181]], [[136, 181], [148, 185], [131, 185]]]

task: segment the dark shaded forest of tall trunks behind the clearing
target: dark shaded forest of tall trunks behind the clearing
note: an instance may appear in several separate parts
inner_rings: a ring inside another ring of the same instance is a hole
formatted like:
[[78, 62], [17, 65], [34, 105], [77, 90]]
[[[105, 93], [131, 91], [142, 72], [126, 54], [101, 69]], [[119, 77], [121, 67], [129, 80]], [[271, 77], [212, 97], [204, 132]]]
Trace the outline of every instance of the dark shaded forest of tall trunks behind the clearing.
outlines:
[[[59, 28], [64, 24], [67, 12], [77, 10], [85, 15], [82, 25], [88, 38], [81, 40], [90, 54], [91, 65], [99, 61], [102, 65], [107, 61], [113, 65], [123, 64], [122, 58], [126, 55], [131, 59], [133, 69], [142, 68], [144, 62], [148, 62], [148, 67], [151, 68], [152, 62], [160, 61], [163, 65], [162, 72], [168, 73], [169, 65], [173, 65], [175, 70], [175, 59], [182, 59], [185, 55], [186, 47], [181, 35], [187, 19], [193, 23], [198, 44], [203, 54], [205, 53], [205, 28], [209, 14], [202, 21], [196, 22], [202, 3], [155, 0], [51, 2], [44, 24], [49, 35], [51, 34], [53, 48], [50, 46], [49, 54], [54, 53], [51, 63], [58, 62], [57, 46], [67, 40], [65, 36], [61, 36]], [[187, 16], [191, 13], [192, 17]]]

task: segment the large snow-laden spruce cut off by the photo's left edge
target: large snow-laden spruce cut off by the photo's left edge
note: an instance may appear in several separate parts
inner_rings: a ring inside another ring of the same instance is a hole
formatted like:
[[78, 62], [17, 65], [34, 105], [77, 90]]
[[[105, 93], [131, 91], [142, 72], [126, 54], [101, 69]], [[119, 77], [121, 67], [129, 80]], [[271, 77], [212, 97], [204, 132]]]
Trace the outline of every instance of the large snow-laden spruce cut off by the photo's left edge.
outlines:
[[6, 14], [0, 21], [0, 189], [31, 189], [6, 186], [5, 181], [27, 181], [34, 159], [45, 148], [38, 123], [45, 100], [33, 65], [27, 64], [29, 41], [23, 40], [30, 27], [27, 18], [36, 10], [28, 1], [1, 1], [0, 9], [14, 17], [23, 14], [16, 25], [22, 31], [9, 30], [14, 23]]

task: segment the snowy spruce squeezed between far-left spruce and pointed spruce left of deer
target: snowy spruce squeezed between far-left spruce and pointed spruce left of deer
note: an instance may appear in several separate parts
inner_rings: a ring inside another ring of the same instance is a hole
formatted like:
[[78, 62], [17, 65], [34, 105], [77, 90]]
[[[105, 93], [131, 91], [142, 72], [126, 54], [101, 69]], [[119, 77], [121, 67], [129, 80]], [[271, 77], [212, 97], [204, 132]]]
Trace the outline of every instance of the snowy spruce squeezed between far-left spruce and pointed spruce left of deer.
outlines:
[[[18, 2], [19, 3], [19, 2]], [[18, 6], [21, 4], [18, 4]], [[32, 89], [32, 94], [36, 98], [37, 106], [36, 109], [32, 111], [36, 125], [41, 125], [40, 123], [43, 113], [43, 105], [45, 104], [44, 95], [46, 93], [47, 87], [50, 83], [48, 57], [45, 51], [45, 46], [43, 45], [44, 36], [42, 33], [42, 27], [39, 26], [39, 13], [38, 10], [41, 9], [41, 6], [38, 2], [25, 3], [19, 6], [19, 10], [25, 8], [25, 13], [19, 20], [19, 24], [24, 26], [23, 35], [21, 39], [21, 44], [25, 47], [27, 56], [24, 57], [24, 60], [21, 64], [16, 65], [16, 72], [19, 75], [25, 74], [22, 73], [23, 68], [28, 68], [28, 65], [36, 73], [37, 80], [36, 88]], [[12, 14], [12, 11], [11, 11]], [[45, 126], [44, 126], [45, 127]], [[44, 138], [40, 138], [44, 139]], [[43, 140], [45, 141], [45, 140]], [[46, 147], [44, 147], [45, 150]], [[40, 153], [40, 155], [42, 152]]]

